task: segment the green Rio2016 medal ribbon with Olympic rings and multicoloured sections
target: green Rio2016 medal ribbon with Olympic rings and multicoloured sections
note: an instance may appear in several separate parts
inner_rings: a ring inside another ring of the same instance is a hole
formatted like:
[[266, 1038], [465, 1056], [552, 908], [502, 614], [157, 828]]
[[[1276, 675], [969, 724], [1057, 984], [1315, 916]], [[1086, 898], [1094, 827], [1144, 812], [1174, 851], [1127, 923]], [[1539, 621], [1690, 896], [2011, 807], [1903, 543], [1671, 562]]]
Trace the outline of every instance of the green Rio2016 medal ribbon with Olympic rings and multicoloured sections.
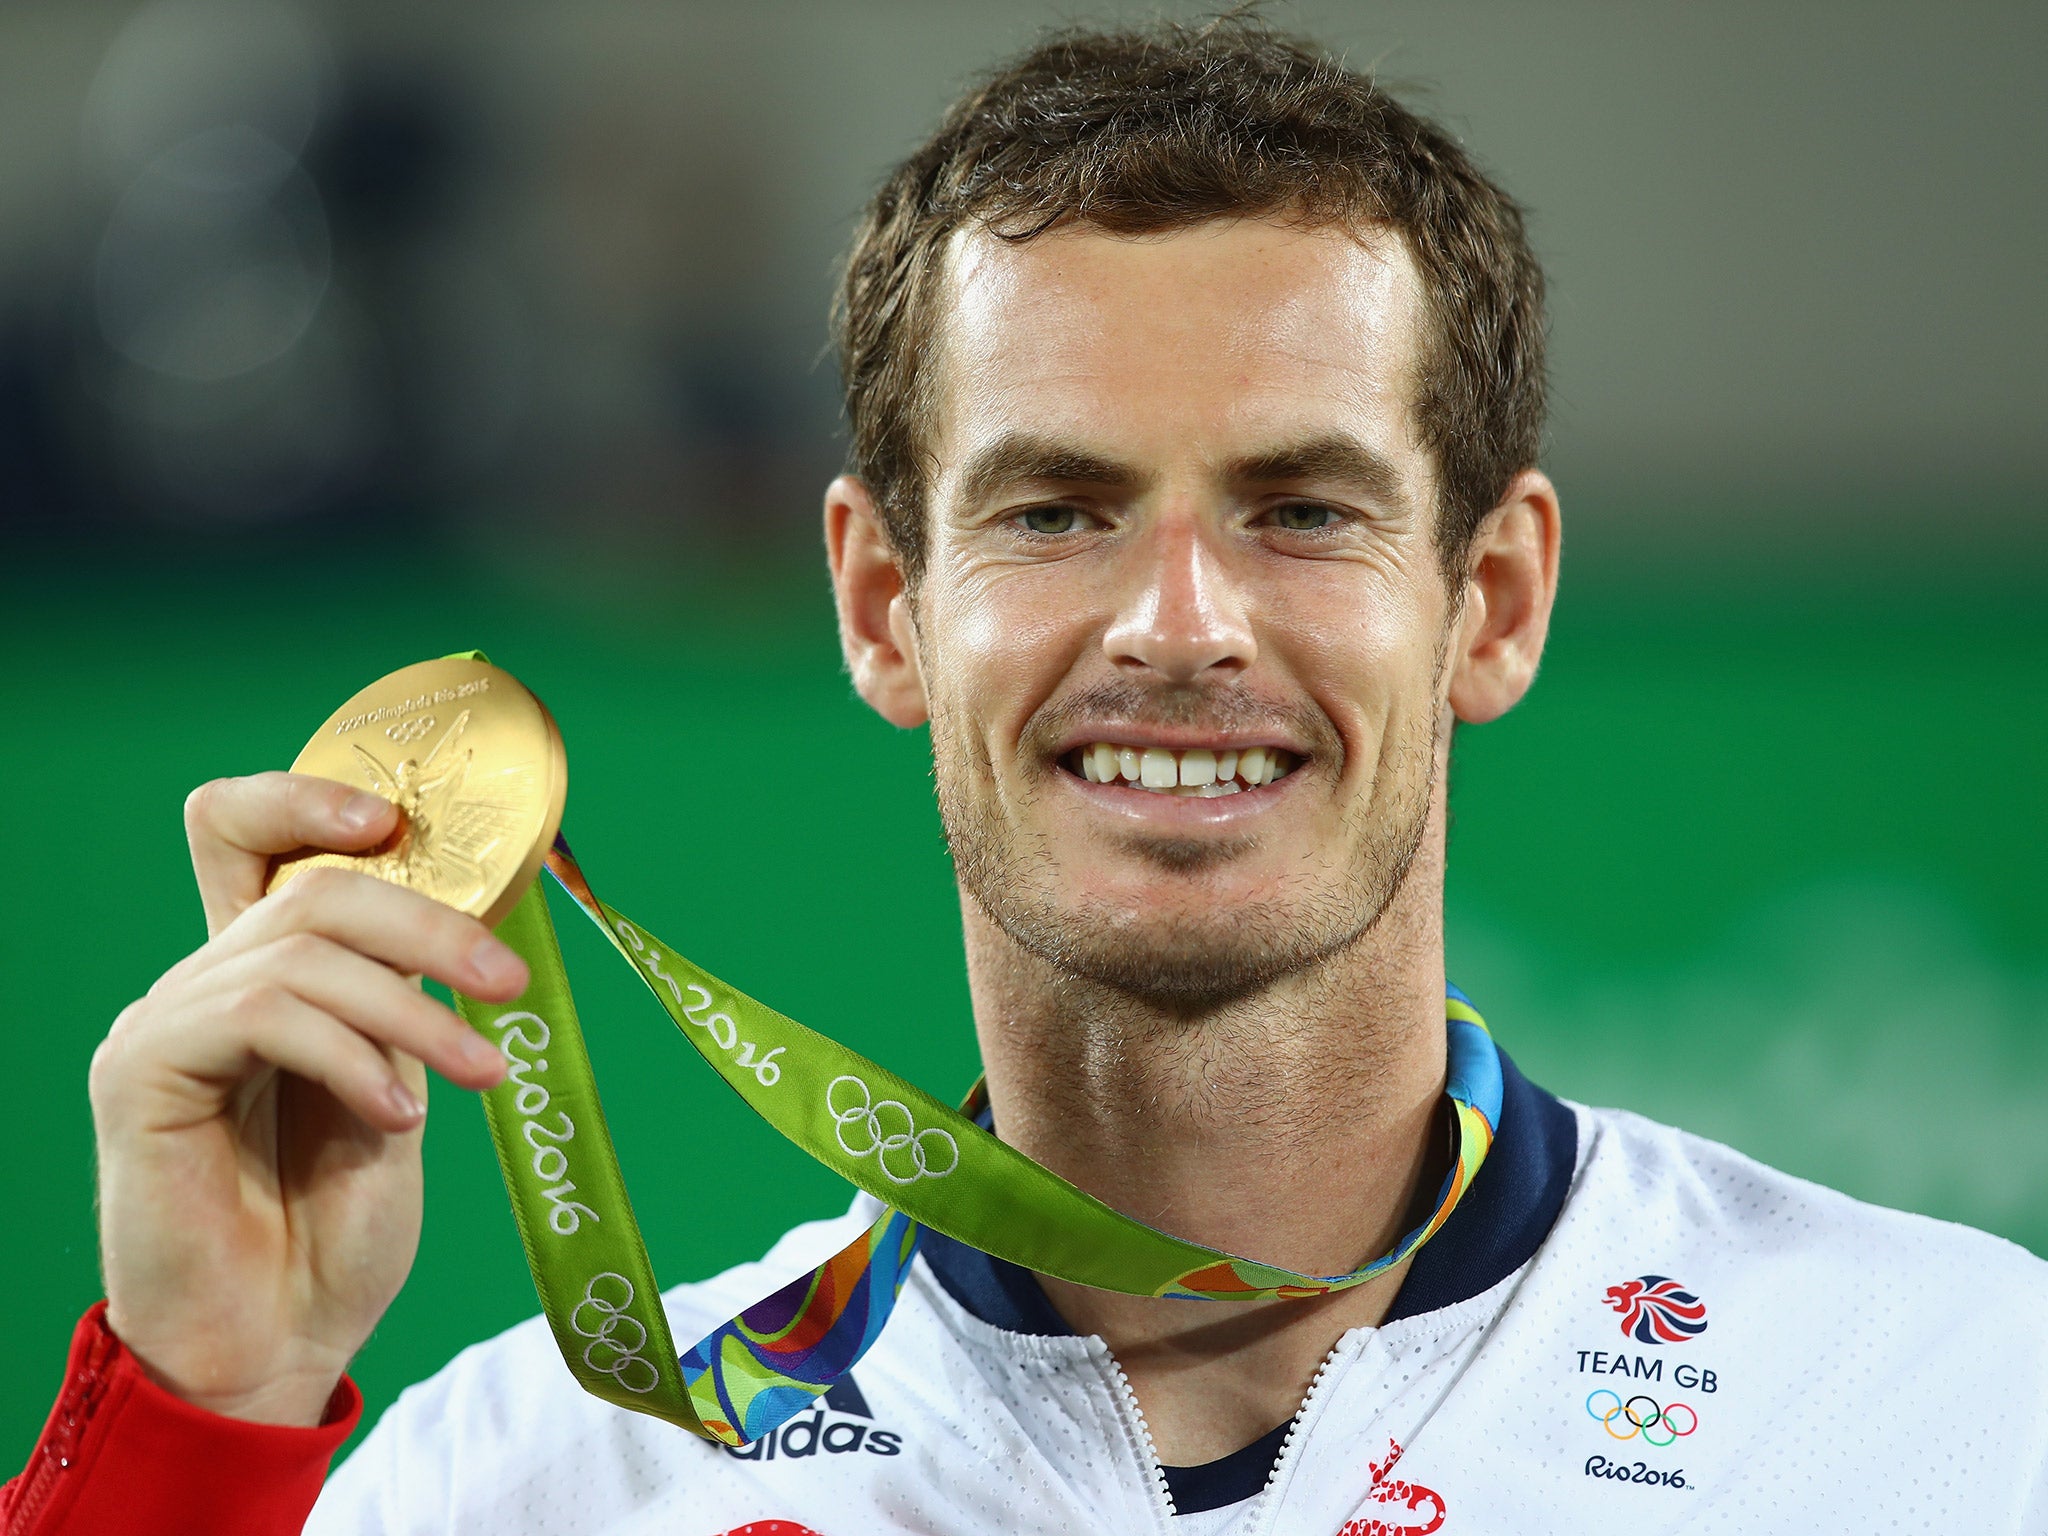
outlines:
[[[924, 1227], [1040, 1274], [1137, 1296], [1319, 1296], [1384, 1274], [1421, 1247], [1470, 1186], [1499, 1120], [1493, 1042], [1452, 991], [1448, 1098], [1458, 1155], [1430, 1221], [1346, 1274], [1257, 1264], [1112, 1210], [887, 1067], [725, 985], [598, 899], [565, 842], [547, 868], [752, 1110], [885, 1204], [817, 1272], [678, 1358], [539, 883], [500, 924], [532, 973], [526, 991], [510, 1004], [457, 995], [457, 1006], [508, 1063], [483, 1108], [555, 1341], [588, 1391], [725, 1444], [768, 1434], [860, 1358]], [[977, 1085], [969, 1108], [979, 1102]]]

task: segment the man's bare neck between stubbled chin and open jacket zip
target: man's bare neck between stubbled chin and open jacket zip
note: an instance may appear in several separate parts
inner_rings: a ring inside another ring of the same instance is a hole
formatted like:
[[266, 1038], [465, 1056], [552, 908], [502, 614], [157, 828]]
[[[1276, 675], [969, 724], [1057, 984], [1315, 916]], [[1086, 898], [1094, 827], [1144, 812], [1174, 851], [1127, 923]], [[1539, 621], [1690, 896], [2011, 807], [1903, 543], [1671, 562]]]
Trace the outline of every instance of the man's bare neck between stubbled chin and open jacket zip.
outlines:
[[[1307, 1274], [1395, 1245], [1444, 1157], [1442, 825], [1380, 920], [1313, 971], [1208, 1014], [1114, 993], [963, 901], [1004, 1141], [1176, 1237]], [[1169, 1303], [1042, 1278], [1116, 1354], [1167, 1462], [1284, 1423], [1331, 1343], [1376, 1325], [1407, 1266], [1317, 1300]]]

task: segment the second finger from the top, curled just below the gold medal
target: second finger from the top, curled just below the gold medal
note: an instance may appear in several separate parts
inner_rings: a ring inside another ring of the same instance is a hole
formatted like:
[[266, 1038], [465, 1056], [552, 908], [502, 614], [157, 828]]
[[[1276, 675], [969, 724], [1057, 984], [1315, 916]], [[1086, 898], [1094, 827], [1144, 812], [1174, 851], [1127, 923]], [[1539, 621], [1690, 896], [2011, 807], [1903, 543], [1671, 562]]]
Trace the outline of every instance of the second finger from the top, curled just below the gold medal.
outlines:
[[272, 944], [289, 934], [313, 934], [381, 961], [406, 975], [428, 975], [444, 987], [487, 1001], [508, 1001], [526, 989], [526, 963], [475, 918], [432, 897], [344, 868], [313, 868], [248, 907], [197, 954], [172, 967], [158, 985]]

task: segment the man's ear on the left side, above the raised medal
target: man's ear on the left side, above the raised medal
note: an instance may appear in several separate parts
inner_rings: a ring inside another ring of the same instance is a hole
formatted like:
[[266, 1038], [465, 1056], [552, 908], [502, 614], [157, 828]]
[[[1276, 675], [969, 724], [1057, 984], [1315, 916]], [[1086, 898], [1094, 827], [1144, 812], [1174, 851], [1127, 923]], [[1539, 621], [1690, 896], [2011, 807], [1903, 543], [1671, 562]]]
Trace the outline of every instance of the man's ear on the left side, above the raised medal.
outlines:
[[840, 649], [854, 690], [891, 725], [924, 725], [924, 674], [903, 561], [868, 487], [840, 475], [825, 487], [825, 559], [840, 608]]

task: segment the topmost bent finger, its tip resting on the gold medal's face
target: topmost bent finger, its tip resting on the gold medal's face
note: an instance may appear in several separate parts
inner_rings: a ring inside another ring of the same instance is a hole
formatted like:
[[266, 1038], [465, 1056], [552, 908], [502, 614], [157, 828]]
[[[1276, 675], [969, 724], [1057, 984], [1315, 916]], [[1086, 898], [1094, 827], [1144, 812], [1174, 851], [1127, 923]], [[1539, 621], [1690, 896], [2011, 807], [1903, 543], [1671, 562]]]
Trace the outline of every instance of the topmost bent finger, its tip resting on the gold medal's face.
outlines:
[[360, 852], [397, 829], [397, 807], [330, 778], [252, 774], [215, 778], [184, 801], [207, 934], [219, 934], [262, 899], [270, 854], [295, 848]]

